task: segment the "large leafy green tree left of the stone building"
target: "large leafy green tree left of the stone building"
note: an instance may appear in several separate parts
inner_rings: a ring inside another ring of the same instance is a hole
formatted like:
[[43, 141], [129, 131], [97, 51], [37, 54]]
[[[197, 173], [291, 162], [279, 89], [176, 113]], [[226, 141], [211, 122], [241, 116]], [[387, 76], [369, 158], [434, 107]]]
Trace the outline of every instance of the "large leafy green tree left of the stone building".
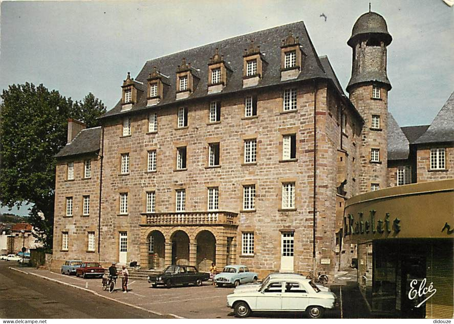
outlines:
[[32, 204], [29, 222], [49, 249], [54, 225], [54, 155], [66, 144], [68, 118], [94, 127], [106, 109], [92, 93], [73, 102], [42, 84], [10, 85], [1, 98], [1, 206]]

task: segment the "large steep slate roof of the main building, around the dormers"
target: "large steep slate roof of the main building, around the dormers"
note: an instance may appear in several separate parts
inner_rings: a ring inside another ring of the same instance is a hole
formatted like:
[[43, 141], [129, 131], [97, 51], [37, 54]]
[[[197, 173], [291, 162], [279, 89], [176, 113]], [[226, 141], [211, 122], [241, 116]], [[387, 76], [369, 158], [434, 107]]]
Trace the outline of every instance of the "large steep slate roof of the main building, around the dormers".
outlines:
[[[299, 76], [296, 79], [281, 82], [281, 45], [282, 40], [288, 36], [289, 31], [291, 31], [294, 37], [299, 37], [300, 48], [306, 56]], [[259, 84], [257, 86], [247, 87], [245, 90], [285, 84], [299, 80], [322, 78], [331, 80], [335, 87], [343, 94], [342, 88], [337, 81], [334, 72], [332, 72], [331, 64], [329, 64], [327, 58], [319, 59], [311, 39], [309, 38], [309, 34], [307, 33], [306, 26], [302, 21], [299, 21], [148, 60], [135, 79], [139, 82], [136, 83], [136, 88], [141, 91], [137, 92], [138, 98], [137, 102], [133, 105], [133, 108], [122, 112], [120, 100], [114, 108], [105, 113], [101, 118], [151, 108], [147, 107], [147, 78], [153, 71], [154, 66], [156, 66], [161, 74], [168, 77], [163, 77], [163, 82], [170, 84], [170, 87], [168, 87], [167, 93], [164, 94], [164, 98], [153, 107], [158, 108], [169, 103], [184, 103], [192, 98], [211, 97], [219, 95], [220, 93], [234, 93], [243, 90], [243, 54], [244, 49], [249, 47], [252, 40], [255, 45], [260, 46], [260, 52], [263, 55], [262, 58], [266, 63], [263, 64], [262, 79]], [[220, 93], [207, 94], [208, 62], [214, 55], [216, 48], [219, 49], [219, 54], [223, 55], [223, 59], [229, 69], [232, 70], [232, 73], [227, 74], [227, 84]], [[200, 80], [189, 98], [177, 101], [175, 99], [176, 73], [177, 67], [182, 64], [183, 58], [186, 59], [187, 63], [191, 63], [193, 74]], [[331, 71], [326, 71], [326, 69], [330, 69]], [[350, 106], [353, 108], [353, 105]], [[355, 110], [355, 108], [353, 109]], [[356, 111], [355, 113], [360, 116]]]

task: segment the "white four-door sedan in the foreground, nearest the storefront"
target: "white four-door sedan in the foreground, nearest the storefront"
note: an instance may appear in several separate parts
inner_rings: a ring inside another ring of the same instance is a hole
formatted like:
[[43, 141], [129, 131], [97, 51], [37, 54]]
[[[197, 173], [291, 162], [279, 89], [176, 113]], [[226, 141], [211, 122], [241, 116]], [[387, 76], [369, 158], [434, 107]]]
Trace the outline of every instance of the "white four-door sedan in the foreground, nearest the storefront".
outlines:
[[337, 298], [304, 276], [283, 274], [268, 277], [255, 290], [236, 288], [227, 296], [227, 306], [237, 317], [253, 311], [306, 311], [311, 318], [321, 318], [325, 309], [337, 306]]

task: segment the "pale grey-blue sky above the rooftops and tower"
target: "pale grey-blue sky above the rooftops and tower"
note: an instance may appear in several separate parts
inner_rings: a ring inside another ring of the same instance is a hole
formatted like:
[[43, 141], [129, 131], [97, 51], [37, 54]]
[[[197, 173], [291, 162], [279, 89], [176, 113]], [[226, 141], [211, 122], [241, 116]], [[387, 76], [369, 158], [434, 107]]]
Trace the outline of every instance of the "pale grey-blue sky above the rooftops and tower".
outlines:
[[92, 92], [109, 110], [127, 72], [148, 59], [303, 20], [345, 89], [346, 41], [369, 1], [393, 37], [388, 108], [401, 126], [429, 124], [454, 90], [454, 7], [442, 0], [3, 1], [0, 88], [43, 83], [77, 100]]

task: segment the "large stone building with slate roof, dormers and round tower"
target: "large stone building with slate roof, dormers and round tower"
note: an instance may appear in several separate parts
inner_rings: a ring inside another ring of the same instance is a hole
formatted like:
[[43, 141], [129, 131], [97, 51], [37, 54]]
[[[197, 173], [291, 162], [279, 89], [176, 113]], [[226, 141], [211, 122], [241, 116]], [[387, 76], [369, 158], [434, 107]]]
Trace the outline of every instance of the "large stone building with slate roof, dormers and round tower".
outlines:
[[[357, 20], [350, 99], [303, 22], [128, 73], [101, 127], [69, 121], [56, 156], [54, 267], [74, 258], [149, 269], [215, 262], [266, 275], [349, 265], [345, 200], [389, 186], [410, 161], [401, 154], [396, 171], [387, 167], [390, 42], [383, 17]], [[421, 164], [430, 145], [417, 146]]]

